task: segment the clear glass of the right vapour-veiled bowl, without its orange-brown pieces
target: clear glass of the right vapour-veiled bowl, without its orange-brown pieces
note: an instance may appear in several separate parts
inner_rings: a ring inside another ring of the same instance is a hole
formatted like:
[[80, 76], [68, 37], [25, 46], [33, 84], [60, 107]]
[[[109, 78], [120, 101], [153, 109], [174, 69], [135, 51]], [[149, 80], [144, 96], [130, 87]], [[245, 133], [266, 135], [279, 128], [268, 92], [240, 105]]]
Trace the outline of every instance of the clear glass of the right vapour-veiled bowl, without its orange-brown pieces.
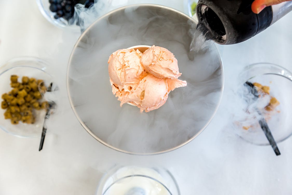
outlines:
[[[258, 119], [261, 116], [267, 121], [271, 133], [277, 143], [287, 139], [292, 134], [292, 73], [275, 64], [271, 63], [256, 63], [244, 68], [244, 71], [239, 76], [240, 85], [243, 85], [246, 81], [254, 83], [260, 83], [264, 86], [270, 87], [270, 96], [262, 95], [261, 99], [258, 99], [256, 103], [257, 107], [266, 106], [271, 97], [275, 97], [279, 102], [273, 112], [265, 111], [262, 109], [262, 114], [259, 116], [257, 113], [250, 111], [247, 115], [245, 126], [248, 126], [247, 130], [239, 125], [239, 128], [235, 125], [236, 133], [245, 141], [256, 145], [270, 145], [269, 141], [265, 137], [263, 130], [258, 124]], [[251, 117], [249, 117], [251, 116]], [[249, 127], [251, 125], [251, 127]]]

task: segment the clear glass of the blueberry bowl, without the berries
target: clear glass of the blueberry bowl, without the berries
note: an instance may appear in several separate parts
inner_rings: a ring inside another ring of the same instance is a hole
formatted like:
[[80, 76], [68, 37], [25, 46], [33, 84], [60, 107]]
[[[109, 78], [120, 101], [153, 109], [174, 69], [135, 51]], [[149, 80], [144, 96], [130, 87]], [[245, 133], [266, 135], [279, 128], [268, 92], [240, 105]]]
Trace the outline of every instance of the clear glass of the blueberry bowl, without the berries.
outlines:
[[[85, 1], [85, 0], [84, 0]], [[96, 2], [96, 1], [95, 1]], [[74, 8], [75, 13], [74, 16], [72, 17], [72, 19], [70, 19], [68, 22], [66, 19], [64, 18], [58, 18], [55, 19], [54, 16], [56, 13], [52, 12], [49, 7], [50, 7], [50, 3], [49, 0], [36, 0], [36, 3], [39, 7], [39, 10], [41, 11], [42, 15], [53, 25], [57, 26], [57, 27], [61, 27], [61, 28], [66, 28], [66, 29], [70, 29], [73, 31], [78, 31], [80, 30], [80, 26], [76, 25], [77, 23], [77, 14], [76, 14], [76, 8]], [[90, 8], [91, 11], [88, 11], [87, 8], [85, 8], [83, 5], [82, 6], [78, 6], [78, 13], [80, 14], [81, 12], [84, 12], [84, 16], [88, 17], [86, 19], [83, 19], [81, 17], [80, 21], [82, 24], [81, 26], [84, 24], [84, 22], [91, 22], [94, 21], [96, 18], [98, 18], [100, 15], [102, 15], [103, 13], [106, 13], [107, 11], [109, 11], [109, 8], [112, 4], [112, 0], [108, 0], [108, 1], [102, 1], [102, 2], [98, 2], [98, 4], [95, 4], [95, 10], [98, 10], [98, 13], [93, 13], [94, 10], [92, 9], [92, 7]], [[88, 11], [88, 14], [86, 14], [85, 12]], [[90, 19], [89, 19], [90, 18]], [[88, 20], [88, 21], [87, 21]], [[79, 22], [79, 21], [78, 21]], [[81, 28], [86, 28], [88, 26], [88, 24], [85, 24], [86, 26], [82, 26]]]

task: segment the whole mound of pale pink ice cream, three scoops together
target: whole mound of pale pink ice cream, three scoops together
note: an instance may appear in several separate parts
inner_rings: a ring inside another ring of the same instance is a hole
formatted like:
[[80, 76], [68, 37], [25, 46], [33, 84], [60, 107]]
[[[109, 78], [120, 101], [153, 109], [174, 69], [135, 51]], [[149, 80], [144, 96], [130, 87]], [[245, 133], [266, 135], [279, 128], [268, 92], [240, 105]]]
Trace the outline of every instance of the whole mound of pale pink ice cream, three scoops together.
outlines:
[[109, 57], [109, 80], [121, 106], [124, 103], [149, 112], [161, 107], [170, 91], [185, 87], [174, 55], [152, 46], [143, 54], [137, 49], [120, 49]]

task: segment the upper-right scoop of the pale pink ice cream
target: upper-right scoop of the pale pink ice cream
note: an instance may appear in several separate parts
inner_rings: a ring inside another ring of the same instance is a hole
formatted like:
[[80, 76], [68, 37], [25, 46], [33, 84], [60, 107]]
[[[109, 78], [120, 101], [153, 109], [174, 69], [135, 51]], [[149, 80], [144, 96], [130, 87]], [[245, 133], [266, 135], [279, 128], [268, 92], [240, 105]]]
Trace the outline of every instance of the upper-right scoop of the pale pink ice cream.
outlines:
[[147, 49], [142, 57], [143, 68], [157, 78], [177, 79], [181, 73], [178, 70], [178, 61], [173, 53], [159, 46]]

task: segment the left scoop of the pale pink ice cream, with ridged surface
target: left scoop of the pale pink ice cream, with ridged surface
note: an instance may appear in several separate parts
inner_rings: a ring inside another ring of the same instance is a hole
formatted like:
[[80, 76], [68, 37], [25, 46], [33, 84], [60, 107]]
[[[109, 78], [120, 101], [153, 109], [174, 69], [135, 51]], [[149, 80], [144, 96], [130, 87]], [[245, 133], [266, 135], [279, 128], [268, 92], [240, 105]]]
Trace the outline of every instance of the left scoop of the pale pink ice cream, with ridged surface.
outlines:
[[142, 53], [134, 49], [120, 49], [112, 53], [108, 70], [113, 93], [122, 89], [129, 91], [131, 84], [140, 82], [144, 71], [140, 64], [141, 56]]

